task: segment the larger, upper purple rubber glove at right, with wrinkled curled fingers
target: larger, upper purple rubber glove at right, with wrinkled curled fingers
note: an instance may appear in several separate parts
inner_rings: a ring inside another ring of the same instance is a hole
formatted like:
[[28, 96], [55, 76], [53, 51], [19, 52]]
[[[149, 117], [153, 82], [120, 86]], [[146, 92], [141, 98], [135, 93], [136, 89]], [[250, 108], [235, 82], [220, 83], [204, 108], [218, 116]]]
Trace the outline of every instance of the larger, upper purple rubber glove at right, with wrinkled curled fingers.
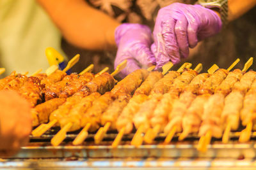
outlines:
[[173, 64], [189, 55], [189, 47], [198, 41], [217, 34], [221, 19], [212, 10], [199, 4], [173, 3], [158, 11], [154, 27], [152, 52], [159, 68], [171, 60]]

